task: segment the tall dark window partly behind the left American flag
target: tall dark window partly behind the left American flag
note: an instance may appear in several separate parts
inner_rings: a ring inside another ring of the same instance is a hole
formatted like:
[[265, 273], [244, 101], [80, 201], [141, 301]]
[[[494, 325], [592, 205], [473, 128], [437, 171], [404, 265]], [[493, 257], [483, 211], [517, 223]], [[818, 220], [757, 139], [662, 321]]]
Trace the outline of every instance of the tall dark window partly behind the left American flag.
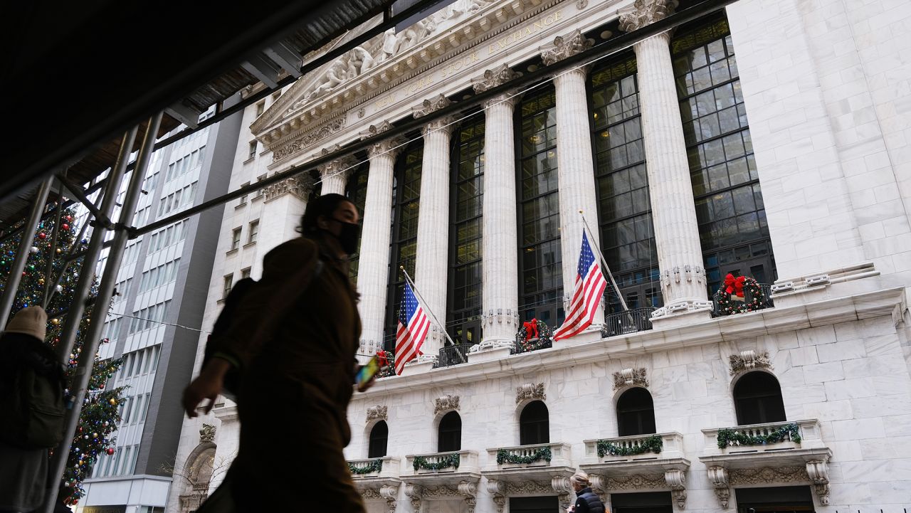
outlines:
[[389, 265], [389, 293], [386, 301], [386, 332], [384, 346], [387, 351], [395, 349], [395, 331], [398, 323], [399, 304], [404, 293], [404, 275], [399, 266], [404, 266], [411, 276], [415, 275], [415, 252], [417, 251], [417, 214], [420, 210], [421, 165], [424, 159], [424, 141], [415, 140], [408, 145], [396, 161], [393, 180], [393, 224], [392, 258]]

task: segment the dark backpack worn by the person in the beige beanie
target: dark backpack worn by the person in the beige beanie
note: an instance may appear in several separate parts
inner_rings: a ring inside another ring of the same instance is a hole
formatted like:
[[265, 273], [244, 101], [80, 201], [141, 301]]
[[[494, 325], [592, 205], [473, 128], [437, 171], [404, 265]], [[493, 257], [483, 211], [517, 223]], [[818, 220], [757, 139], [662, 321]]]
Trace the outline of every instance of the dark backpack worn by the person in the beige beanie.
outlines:
[[64, 436], [64, 367], [44, 342], [20, 333], [3, 335], [7, 359], [0, 386], [0, 440], [24, 449], [56, 447]]

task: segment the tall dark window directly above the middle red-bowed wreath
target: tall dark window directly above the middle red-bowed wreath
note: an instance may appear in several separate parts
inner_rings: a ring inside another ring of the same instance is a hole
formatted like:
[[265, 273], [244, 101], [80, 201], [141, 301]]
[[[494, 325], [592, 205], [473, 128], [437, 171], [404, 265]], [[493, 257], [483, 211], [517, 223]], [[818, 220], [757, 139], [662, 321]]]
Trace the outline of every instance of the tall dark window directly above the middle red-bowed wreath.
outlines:
[[563, 322], [563, 270], [557, 194], [557, 120], [553, 87], [536, 89], [517, 109], [521, 282], [519, 311], [557, 326]]

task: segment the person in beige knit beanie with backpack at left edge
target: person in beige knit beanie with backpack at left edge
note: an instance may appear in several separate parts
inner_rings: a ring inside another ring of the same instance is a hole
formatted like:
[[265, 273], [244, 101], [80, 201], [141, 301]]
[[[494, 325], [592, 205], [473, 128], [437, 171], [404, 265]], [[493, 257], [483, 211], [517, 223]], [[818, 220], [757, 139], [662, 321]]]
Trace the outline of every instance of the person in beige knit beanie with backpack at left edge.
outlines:
[[40, 508], [48, 487], [48, 450], [64, 435], [64, 374], [45, 344], [47, 313], [29, 306], [0, 334], [0, 513]]

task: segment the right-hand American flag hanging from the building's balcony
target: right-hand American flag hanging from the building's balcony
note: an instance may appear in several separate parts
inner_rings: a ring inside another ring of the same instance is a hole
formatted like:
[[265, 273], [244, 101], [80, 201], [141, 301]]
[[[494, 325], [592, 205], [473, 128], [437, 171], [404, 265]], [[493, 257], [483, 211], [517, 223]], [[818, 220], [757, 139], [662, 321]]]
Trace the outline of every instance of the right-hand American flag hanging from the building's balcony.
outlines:
[[572, 301], [569, 303], [567, 319], [554, 333], [554, 340], [577, 335], [591, 325], [595, 312], [598, 312], [601, 294], [604, 293], [607, 286], [608, 282], [604, 280], [604, 274], [601, 273], [598, 261], [595, 260], [595, 254], [591, 252], [589, 237], [583, 230], [582, 251], [578, 254], [578, 271], [576, 272], [576, 284], [573, 286]]

